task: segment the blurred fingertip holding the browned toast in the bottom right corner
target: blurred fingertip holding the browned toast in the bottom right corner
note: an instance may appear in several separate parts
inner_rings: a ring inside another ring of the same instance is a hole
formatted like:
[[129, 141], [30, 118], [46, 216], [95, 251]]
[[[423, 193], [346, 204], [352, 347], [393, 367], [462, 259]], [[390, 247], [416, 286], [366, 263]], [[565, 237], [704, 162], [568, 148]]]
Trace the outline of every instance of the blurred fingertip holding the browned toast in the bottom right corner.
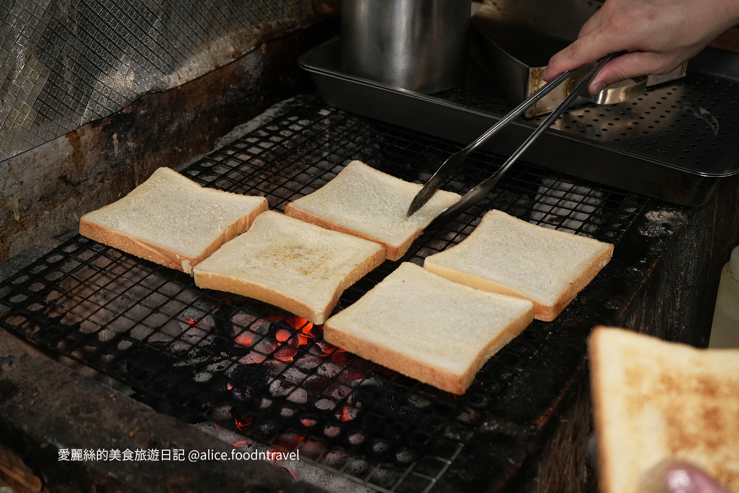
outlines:
[[692, 464], [666, 460], [644, 474], [641, 493], [726, 493]]

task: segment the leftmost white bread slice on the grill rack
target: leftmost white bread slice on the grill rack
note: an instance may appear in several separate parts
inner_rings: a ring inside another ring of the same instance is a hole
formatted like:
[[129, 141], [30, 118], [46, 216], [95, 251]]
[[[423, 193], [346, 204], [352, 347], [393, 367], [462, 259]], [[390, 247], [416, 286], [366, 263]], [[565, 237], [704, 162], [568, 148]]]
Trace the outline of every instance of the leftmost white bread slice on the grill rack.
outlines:
[[159, 168], [129, 195], [82, 216], [80, 234], [191, 274], [267, 209], [264, 197], [203, 188]]

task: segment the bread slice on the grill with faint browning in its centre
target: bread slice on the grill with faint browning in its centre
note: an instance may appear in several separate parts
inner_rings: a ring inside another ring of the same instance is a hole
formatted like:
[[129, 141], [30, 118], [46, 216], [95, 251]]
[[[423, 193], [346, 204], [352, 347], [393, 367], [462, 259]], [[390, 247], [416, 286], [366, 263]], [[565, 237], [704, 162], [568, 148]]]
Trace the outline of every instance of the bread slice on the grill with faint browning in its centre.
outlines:
[[382, 264], [373, 241], [268, 211], [194, 269], [195, 284], [235, 292], [324, 323], [344, 289]]

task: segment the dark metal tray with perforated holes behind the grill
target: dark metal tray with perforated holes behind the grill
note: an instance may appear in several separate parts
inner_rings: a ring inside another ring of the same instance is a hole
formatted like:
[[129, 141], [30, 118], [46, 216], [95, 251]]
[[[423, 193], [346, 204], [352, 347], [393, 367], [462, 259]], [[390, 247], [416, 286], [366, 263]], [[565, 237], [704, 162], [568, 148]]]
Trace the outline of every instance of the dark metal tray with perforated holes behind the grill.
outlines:
[[[458, 87], [423, 95], [342, 73], [338, 38], [299, 60], [333, 107], [469, 144], [514, 104], [471, 59]], [[739, 55], [706, 49], [688, 76], [634, 101], [565, 112], [524, 159], [685, 206], [739, 172]], [[511, 154], [543, 118], [519, 118], [485, 148]]]

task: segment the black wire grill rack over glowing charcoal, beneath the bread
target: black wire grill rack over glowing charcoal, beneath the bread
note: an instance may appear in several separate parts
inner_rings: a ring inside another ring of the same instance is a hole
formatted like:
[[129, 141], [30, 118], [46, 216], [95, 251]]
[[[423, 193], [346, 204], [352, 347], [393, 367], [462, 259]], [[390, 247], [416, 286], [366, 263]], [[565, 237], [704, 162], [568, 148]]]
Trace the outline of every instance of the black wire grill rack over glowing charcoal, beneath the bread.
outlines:
[[[422, 182], [460, 148], [316, 98], [300, 101], [183, 174], [206, 187], [264, 195], [282, 211], [351, 159]], [[444, 188], [466, 192], [501, 164], [500, 156], [475, 152]], [[457, 244], [491, 207], [618, 243], [646, 203], [521, 163], [488, 201], [418, 238], [401, 261], [422, 264]], [[398, 264], [387, 261], [347, 289], [338, 309]], [[267, 446], [298, 447], [304, 460], [378, 492], [426, 492], [455, 477], [454, 460], [483, 421], [499, 423], [499, 440], [477, 474], [507, 477], [509, 460], [521, 463], [528, 453], [521, 443], [539, 429], [506, 419], [497, 403], [556, 329], [556, 321], [532, 323], [457, 397], [333, 348], [318, 327], [280, 309], [199, 289], [183, 272], [79, 235], [0, 284], [0, 305], [5, 329], [132, 386], [155, 409], [188, 422], [211, 420]]]

